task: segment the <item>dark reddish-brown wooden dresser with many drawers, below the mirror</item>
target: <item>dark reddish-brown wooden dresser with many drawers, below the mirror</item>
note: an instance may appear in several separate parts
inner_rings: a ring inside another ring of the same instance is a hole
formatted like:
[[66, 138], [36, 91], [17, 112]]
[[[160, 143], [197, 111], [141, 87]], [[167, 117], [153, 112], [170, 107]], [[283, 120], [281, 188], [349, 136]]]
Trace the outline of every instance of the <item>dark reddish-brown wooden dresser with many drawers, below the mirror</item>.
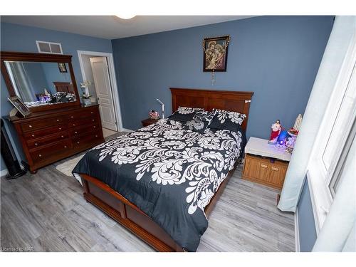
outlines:
[[104, 142], [98, 105], [46, 110], [8, 119], [14, 124], [31, 173]]

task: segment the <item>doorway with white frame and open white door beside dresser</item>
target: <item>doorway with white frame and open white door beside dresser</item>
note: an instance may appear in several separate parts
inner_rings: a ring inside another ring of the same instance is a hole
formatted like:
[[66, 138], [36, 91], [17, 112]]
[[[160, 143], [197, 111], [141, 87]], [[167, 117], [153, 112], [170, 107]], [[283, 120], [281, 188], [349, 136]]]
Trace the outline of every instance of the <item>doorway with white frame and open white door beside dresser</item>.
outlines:
[[88, 80], [92, 103], [99, 104], [103, 135], [108, 137], [122, 130], [112, 53], [78, 51], [83, 80]]

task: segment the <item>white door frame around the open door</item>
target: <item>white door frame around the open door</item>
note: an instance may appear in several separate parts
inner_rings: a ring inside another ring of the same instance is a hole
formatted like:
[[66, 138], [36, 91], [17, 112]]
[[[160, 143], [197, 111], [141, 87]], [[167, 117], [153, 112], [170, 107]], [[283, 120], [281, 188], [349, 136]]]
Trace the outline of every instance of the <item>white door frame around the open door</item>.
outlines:
[[[117, 90], [117, 83], [116, 83], [116, 73], [115, 73], [115, 66], [114, 66], [114, 59], [112, 57], [112, 53], [105, 53], [105, 52], [95, 52], [95, 51], [82, 51], [78, 50], [78, 58], [79, 58], [79, 65], [80, 71], [82, 73], [83, 80], [85, 78], [84, 72], [84, 64], [82, 56], [93, 56], [93, 57], [106, 57], [108, 59], [108, 66], [109, 66], [109, 73], [110, 73], [110, 85], [111, 85], [111, 93], [112, 93], [112, 100], [114, 103], [114, 112], [115, 117], [117, 120], [117, 130], [119, 132], [122, 131], [122, 117], [121, 117], [121, 108], [120, 108], [120, 99], [119, 99], [119, 91]], [[95, 88], [96, 90], [96, 88]]]

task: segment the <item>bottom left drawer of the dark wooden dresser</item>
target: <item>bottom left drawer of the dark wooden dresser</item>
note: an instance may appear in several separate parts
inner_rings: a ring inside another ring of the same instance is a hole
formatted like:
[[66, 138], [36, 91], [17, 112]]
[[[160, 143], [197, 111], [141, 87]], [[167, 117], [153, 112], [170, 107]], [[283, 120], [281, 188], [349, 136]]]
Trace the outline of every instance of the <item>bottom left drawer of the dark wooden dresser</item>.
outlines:
[[63, 141], [55, 142], [51, 145], [44, 145], [40, 148], [30, 150], [33, 161], [46, 160], [47, 157], [70, 150], [72, 148], [72, 142], [69, 138]]

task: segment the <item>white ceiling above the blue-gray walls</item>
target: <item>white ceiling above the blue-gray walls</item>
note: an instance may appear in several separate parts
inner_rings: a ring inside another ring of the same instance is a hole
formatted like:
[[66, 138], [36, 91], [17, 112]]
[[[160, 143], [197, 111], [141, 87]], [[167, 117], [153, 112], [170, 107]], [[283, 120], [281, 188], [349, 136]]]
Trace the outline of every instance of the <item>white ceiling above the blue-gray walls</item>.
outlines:
[[139, 36], [251, 16], [1, 16], [1, 21], [107, 39]]

